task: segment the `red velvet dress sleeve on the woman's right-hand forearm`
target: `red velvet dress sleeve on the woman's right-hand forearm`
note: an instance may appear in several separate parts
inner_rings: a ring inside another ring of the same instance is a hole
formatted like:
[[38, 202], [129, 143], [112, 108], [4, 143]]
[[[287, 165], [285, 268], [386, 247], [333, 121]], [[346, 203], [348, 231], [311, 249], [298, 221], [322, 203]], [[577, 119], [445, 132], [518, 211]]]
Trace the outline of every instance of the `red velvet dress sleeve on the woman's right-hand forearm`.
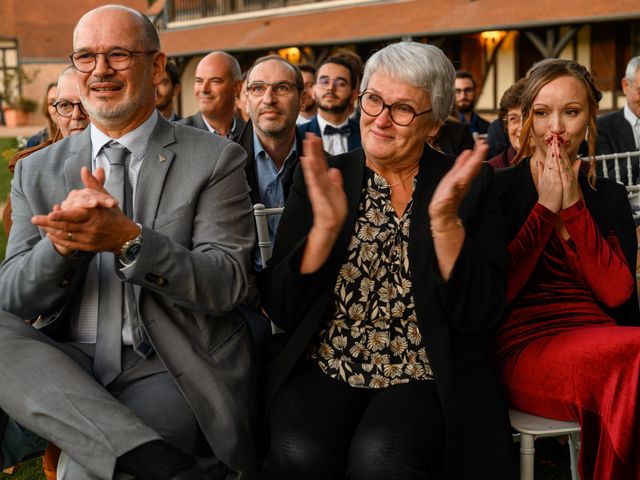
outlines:
[[598, 227], [582, 200], [560, 212], [573, 240], [572, 267], [596, 299], [609, 308], [621, 306], [634, 291], [634, 278], [618, 238], [607, 237]]

